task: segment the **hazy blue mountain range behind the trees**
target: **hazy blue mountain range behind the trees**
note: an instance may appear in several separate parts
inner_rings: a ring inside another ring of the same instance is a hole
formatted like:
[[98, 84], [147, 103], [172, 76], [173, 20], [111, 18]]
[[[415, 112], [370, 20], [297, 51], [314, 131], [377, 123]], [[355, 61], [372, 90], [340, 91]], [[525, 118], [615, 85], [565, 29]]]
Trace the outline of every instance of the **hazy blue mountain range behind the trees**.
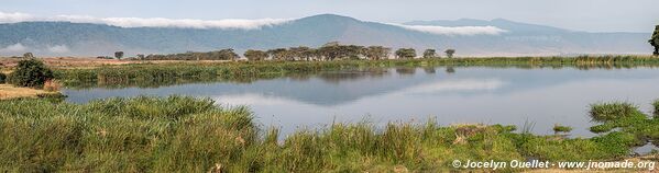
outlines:
[[[437, 27], [443, 26], [443, 27]], [[496, 28], [494, 34], [451, 34], [441, 31]], [[429, 30], [441, 30], [440, 33]], [[263, 26], [240, 28], [118, 27], [72, 22], [0, 24], [0, 55], [33, 51], [42, 56], [97, 56], [123, 50], [134, 54], [208, 51], [220, 48], [268, 49], [317, 47], [328, 42], [383, 45], [393, 48], [455, 48], [459, 56], [524, 56], [567, 54], [647, 54], [650, 33], [589, 33], [495, 19], [367, 22], [321, 14]]]

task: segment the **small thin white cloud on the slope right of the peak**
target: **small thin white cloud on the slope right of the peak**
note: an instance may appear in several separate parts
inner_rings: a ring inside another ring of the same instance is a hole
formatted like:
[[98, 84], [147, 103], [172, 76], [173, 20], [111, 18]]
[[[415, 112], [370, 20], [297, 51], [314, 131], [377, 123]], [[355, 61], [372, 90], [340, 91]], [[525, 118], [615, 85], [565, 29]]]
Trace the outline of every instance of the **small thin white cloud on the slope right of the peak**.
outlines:
[[499, 35], [507, 33], [508, 31], [498, 28], [496, 26], [458, 26], [458, 27], [446, 27], [446, 26], [430, 26], [430, 25], [403, 25], [393, 24], [403, 28], [437, 34], [437, 35]]

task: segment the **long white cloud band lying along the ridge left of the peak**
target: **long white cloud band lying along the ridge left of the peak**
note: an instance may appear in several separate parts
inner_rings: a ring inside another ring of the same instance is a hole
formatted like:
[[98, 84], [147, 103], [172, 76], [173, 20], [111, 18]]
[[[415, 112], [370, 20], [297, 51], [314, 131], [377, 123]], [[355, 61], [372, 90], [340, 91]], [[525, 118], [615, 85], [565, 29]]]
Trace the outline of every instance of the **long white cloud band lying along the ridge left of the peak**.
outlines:
[[186, 28], [226, 28], [226, 30], [259, 30], [264, 26], [284, 24], [289, 19], [257, 19], [257, 20], [191, 20], [191, 19], [164, 19], [164, 18], [95, 18], [89, 15], [56, 15], [40, 18], [24, 13], [0, 12], [0, 23], [15, 23], [26, 21], [65, 21], [73, 23], [97, 23], [119, 27], [186, 27]]

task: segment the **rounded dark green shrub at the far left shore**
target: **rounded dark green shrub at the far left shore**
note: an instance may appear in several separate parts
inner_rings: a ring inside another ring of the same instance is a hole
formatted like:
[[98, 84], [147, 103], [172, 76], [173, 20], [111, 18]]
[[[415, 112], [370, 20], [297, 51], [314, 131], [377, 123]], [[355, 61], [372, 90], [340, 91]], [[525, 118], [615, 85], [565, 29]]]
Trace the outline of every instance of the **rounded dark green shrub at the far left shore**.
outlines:
[[53, 78], [53, 71], [42, 61], [26, 59], [19, 61], [17, 70], [10, 74], [9, 82], [17, 86], [42, 88], [46, 80]]

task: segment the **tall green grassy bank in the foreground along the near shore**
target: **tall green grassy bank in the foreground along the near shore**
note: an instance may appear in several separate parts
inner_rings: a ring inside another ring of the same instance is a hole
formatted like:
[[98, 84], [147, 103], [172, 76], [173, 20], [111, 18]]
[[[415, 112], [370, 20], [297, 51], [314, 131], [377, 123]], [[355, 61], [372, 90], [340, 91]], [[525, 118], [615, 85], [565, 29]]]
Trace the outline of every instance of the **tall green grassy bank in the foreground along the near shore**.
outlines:
[[[276, 128], [256, 125], [249, 108], [217, 106], [206, 99], [110, 99], [81, 105], [23, 99], [0, 101], [0, 169], [438, 172], [452, 170], [455, 159], [619, 160], [659, 137], [659, 122], [628, 104], [595, 104], [591, 117], [606, 128], [587, 139], [515, 132], [515, 126], [447, 127], [433, 120], [385, 127], [333, 124], [281, 138]], [[613, 128], [619, 130], [606, 130]]]

